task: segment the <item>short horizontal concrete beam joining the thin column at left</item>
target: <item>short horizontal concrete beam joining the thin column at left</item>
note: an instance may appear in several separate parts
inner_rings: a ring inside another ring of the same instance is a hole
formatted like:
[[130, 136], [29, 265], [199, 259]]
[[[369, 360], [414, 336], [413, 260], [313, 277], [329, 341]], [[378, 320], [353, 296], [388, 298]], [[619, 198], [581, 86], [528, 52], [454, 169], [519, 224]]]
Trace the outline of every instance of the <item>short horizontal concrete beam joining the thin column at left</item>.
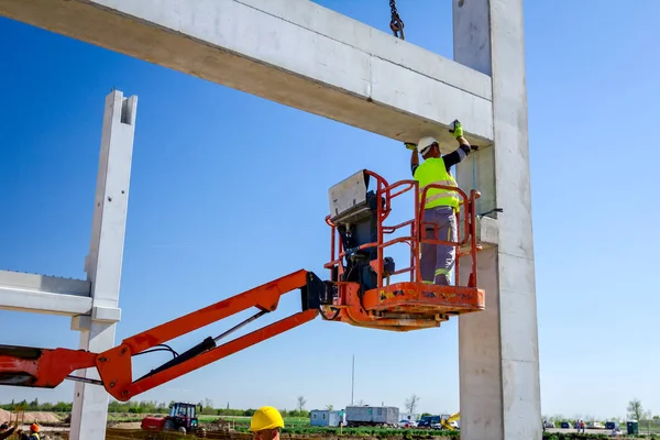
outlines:
[[91, 314], [90, 283], [0, 271], [0, 309], [48, 315]]

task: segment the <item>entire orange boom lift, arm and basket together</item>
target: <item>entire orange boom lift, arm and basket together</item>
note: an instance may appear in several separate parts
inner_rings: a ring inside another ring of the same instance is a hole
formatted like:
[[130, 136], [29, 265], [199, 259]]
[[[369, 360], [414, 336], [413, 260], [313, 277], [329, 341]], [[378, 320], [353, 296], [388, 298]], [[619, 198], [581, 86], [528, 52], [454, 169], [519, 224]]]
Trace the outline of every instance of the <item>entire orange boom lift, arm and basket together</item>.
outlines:
[[[370, 190], [372, 182], [375, 183], [375, 189]], [[427, 239], [422, 233], [426, 230], [422, 221], [424, 200], [431, 188], [455, 190], [461, 198], [461, 209], [457, 215], [460, 226], [458, 242]], [[406, 193], [414, 195], [414, 217], [398, 224], [386, 226], [393, 200]], [[323, 320], [358, 327], [410, 331], [439, 327], [452, 316], [483, 310], [484, 292], [477, 287], [476, 274], [480, 246], [475, 237], [475, 200], [479, 196], [476, 190], [471, 190], [468, 196], [460, 188], [443, 185], [429, 185], [420, 191], [416, 180], [400, 180], [391, 185], [376, 173], [360, 170], [329, 190], [330, 215], [326, 222], [331, 229], [331, 255], [330, 262], [324, 265], [330, 272], [329, 279], [322, 280], [315, 273], [300, 270], [135, 334], [102, 353], [0, 345], [0, 385], [54, 388], [65, 380], [80, 381], [101, 385], [116, 399], [127, 402], [309, 322], [319, 315]], [[397, 231], [409, 231], [409, 234], [389, 239]], [[399, 270], [396, 270], [392, 257], [384, 256], [386, 250], [397, 243], [408, 245], [410, 250], [408, 265]], [[453, 286], [422, 283], [420, 249], [424, 244], [432, 243], [457, 248]], [[466, 283], [462, 284], [459, 265], [461, 257], [465, 256], [470, 257], [471, 271]], [[406, 273], [409, 274], [408, 280], [391, 283], [392, 277]], [[279, 298], [296, 289], [300, 290], [299, 312], [218, 344], [233, 331], [275, 311]], [[180, 354], [165, 344], [252, 307], [257, 309], [252, 317]], [[161, 350], [172, 351], [174, 358], [134, 380], [132, 356]], [[98, 370], [100, 380], [73, 375], [77, 370], [89, 367]]]

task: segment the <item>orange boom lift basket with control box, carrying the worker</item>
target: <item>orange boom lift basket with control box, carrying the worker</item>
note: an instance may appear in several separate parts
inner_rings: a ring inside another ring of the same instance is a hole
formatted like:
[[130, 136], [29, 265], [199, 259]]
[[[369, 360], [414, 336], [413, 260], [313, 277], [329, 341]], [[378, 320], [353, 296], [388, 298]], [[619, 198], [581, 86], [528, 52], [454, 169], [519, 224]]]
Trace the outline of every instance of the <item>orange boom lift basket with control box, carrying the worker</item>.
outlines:
[[[372, 178], [376, 183], [375, 191], [367, 190]], [[427, 239], [421, 233], [426, 229], [424, 200], [431, 188], [455, 190], [461, 198], [457, 220], [458, 224], [463, 224], [458, 228], [457, 242]], [[393, 199], [408, 191], [415, 195], [414, 218], [386, 226], [384, 222], [392, 212]], [[475, 237], [474, 207], [479, 196], [476, 190], [466, 196], [460, 188], [444, 185], [428, 185], [420, 193], [416, 180], [389, 185], [367, 169], [330, 188], [331, 213], [326, 222], [331, 228], [331, 254], [324, 267], [330, 270], [333, 290], [332, 304], [321, 307], [321, 316], [359, 327], [409, 331], [439, 327], [451, 316], [483, 310], [484, 292], [476, 286], [480, 246]], [[385, 241], [386, 235], [402, 228], [408, 228], [409, 234]], [[405, 243], [410, 249], [409, 265], [399, 270], [395, 268], [394, 260], [384, 256], [385, 250], [397, 243]], [[422, 244], [450, 244], [457, 249], [454, 286], [422, 282], [419, 265]], [[465, 285], [461, 285], [461, 257], [468, 257], [471, 264]], [[409, 273], [409, 280], [389, 283], [392, 276], [405, 273]]]

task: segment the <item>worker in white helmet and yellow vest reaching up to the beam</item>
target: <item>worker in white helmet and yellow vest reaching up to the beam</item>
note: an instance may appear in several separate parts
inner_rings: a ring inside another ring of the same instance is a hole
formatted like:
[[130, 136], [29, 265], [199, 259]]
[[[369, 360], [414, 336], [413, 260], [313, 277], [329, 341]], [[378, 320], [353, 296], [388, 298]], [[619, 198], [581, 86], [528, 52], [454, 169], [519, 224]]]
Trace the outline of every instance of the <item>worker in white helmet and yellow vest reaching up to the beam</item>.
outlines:
[[[406, 143], [406, 147], [413, 151], [410, 156], [410, 170], [413, 177], [419, 183], [419, 191], [431, 184], [458, 187], [451, 175], [451, 167], [462, 162], [476, 146], [471, 146], [463, 138], [463, 127], [455, 120], [449, 132], [459, 142], [459, 148], [444, 156], [440, 153], [440, 144], [433, 138], [421, 138], [417, 144]], [[424, 158], [419, 165], [418, 154]], [[421, 200], [420, 200], [421, 202]], [[426, 238], [433, 239], [435, 228], [438, 231], [436, 240], [449, 242], [458, 241], [457, 211], [460, 208], [461, 198], [457, 191], [429, 188], [426, 194], [422, 227], [426, 229]], [[435, 228], [433, 228], [435, 227]], [[420, 271], [421, 279], [427, 284], [448, 286], [450, 274], [454, 266], [455, 248], [444, 244], [428, 244], [421, 246]]]

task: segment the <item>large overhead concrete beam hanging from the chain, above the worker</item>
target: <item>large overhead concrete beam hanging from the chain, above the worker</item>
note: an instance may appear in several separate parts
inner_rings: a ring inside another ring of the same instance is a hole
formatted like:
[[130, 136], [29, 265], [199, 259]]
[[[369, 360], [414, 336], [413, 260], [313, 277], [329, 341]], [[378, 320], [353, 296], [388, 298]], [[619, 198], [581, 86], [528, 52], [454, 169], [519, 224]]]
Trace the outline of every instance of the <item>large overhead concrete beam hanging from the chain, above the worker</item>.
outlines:
[[491, 78], [308, 0], [0, 0], [0, 14], [400, 141], [493, 139]]

